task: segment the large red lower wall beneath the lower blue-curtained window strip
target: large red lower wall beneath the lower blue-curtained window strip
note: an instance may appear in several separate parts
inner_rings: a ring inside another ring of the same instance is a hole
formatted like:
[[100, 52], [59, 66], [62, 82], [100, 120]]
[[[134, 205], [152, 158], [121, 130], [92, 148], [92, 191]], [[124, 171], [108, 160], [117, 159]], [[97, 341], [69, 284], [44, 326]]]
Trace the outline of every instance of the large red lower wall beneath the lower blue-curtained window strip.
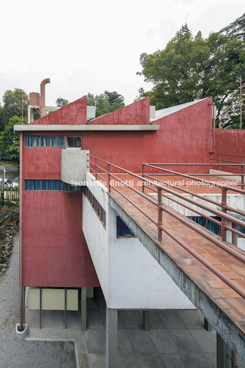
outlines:
[[82, 194], [23, 192], [23, 285], [100, 286], [82, 233]]

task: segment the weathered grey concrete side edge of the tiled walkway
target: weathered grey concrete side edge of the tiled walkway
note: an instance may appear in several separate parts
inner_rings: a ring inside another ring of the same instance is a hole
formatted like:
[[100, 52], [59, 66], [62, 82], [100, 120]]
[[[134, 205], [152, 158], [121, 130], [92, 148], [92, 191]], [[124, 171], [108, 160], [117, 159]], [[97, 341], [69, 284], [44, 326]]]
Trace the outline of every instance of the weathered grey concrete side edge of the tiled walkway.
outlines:
[[137, 225], [137, 223], [126, 214], [116, 202], [109, 196], [109, 205], [122, 220], [128, 225], [130, 230], [139, 238], [141, 244], [154, 257], [154, 259], [170, 275], [176, 285], [196, 306], [199, 312], [207, 319], [218, 334], [223, 338], [231, 349], [245, 362], [245, 334], [237, 325], [203, 292], [192, 279], [161, 249], [150, 236]]

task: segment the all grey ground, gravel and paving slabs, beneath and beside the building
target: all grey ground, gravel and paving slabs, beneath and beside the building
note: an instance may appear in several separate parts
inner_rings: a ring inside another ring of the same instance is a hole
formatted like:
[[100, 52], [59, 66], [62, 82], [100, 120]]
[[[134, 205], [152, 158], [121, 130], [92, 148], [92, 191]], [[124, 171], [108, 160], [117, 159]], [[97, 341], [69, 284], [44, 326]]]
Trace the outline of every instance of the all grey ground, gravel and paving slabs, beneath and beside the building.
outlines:
[[[27, 312], [28, 338], [39, 341], [20, 343], [14, 338], [19, 318], [18, 242], [15, 242], [10, 269], [0, 277], [0, 367], [75, 368], [78, 351], [80, 368], [105, 367], [105, 301], [100, 288], [87, 301], [88, 330], [80, 330], [80, 312], [43, 312], [39, 329], [38, 311]], [[207, 332], [197, 311], [152, 311], [151, 329], [143, 330], [142, 315], [120, 311], [118, 317], [117, 368], [214, 368], [215, 332]], [[56, 337], [60, 341], [48, 341]], [[75, 349], [67, 338], [74, 338]], [[241, 363], [239, 368], [243, 368]]]

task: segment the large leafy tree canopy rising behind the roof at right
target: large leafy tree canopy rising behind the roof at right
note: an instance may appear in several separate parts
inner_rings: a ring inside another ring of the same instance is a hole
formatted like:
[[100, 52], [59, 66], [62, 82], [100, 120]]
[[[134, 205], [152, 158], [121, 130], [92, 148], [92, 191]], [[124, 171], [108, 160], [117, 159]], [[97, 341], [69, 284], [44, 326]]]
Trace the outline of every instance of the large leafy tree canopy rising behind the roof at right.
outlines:
[[[154, 87], [148, 92], [141, 89], [139, 97], [150, 95], [151, 104], [159, 109], [212, 96], [219, 116], [240, 96], [240, 75], [243, 86], [245, 83], [244, 62], [244, 41], [235, 32], [230, 36], [227, 28], [203, 38], [201, 32], [193, 36], [185, 24], [165, 49], [141, 54], [142, 71], [137, 74]], [[238, 110], [222, 119], [224, 126], [236, 126]]]

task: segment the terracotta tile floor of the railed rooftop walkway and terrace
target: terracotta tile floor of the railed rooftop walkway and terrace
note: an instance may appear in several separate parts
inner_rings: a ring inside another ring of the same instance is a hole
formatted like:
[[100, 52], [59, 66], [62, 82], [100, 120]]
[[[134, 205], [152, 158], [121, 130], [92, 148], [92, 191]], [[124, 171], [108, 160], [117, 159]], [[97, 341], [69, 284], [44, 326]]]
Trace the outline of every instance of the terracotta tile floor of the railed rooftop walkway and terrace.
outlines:
[[[141, 190], [141, 186], [137, 185], [138, 179], [134, 179], [128, 174], [115, 174], [115, 176], [119, 177], [119, 179], [122, 181], [128, 181], [130, 185], [133, 185], [137, 189]], [[106, 175], [103, 175], [103, 178], [107, 179]], [[161, 176], [161, 179], [163, 179], [163, 176]], [[215, 176], [208, 176], [207, 179], [213, 181], [225, 180]], [[178, 177], [175, 176], [174, 180], [177, 181]], [[180, 178], [180, 180], [182, 181], [183, 178]], [[117, 182], [117, 184], [118, 183], [119, 182]], [[149, 216], [157, 221], [158, 211], [154, 204], [150, 203], [148, 200], [145, 200], [145, 198], [142, 198], [139, 196], [139, 194], [133, 192], [126, 186], [120, 186], [119, 189], [122, 193], [126, 194], [130, 200], [132, 200], [132, 203], [139, 205], [143, 211], [147, 212]], [[218, 187], [193, 186], [189, 189], [195, 193], [220, 193], [220, 188]], [[150, 192], [150, 190], [147, 189], [146, 192]], [[110, 193], [110, 196], [135, 222], [137, 222], [141, 229], [143, 229], [145, 233], [147, 233], [150, 238], [152, 238], [152, 240], [172, 258], [172, 260], [174, 260], [174, 262], [188, 275], [188, 277], [193, 280], [194, 283], [197, 284], [198, 287], [202, 289], [219, 308], [224, 310], [226, 315], [243, 332], [245, 332], [244, 299], [165, 233], [163, 233], [163, 242], [159, 244], [157, 241], [158, 234], [156, 225], [150, 222], [148, 218], [143, 216], [138, 209], [128, 203], [128, 200], [126, 200], [118, 192], [115, 192], [115, 190]], [[163, 213], [163, 226], [167, 229], [170, 229], [172, 233], [178, 236], [180, 240], [183, 240], [183, 242], [187, 243], [189, 246], [191, 245], [191, 248], [204, 257], [205, 260], [209, 261], [213, 266], [215, 266], [215, 268], [226, 275], [226, 277], [229, 277], [229, 279], [235, 281], [245, 290], [245, 265], [243, 262], [237, 260], [229, 253], [226, 253], [226, 251], [220, 249], [219, 246], [213, 244], [210, 240], [203, 238], [201, 235], [196, 233], [196, 231], [187, 228], [180, 221], [176, 220], [169, 214]], [[199, 227], [199, 225], [196, 226]], [[217, 235], [216, 238], [218, 238]], [[245, 255], [245, 252], [241, 249], [238, 249], [232, 244], [229, 245], [231, 248], [236, 249], [239, 253]]]

